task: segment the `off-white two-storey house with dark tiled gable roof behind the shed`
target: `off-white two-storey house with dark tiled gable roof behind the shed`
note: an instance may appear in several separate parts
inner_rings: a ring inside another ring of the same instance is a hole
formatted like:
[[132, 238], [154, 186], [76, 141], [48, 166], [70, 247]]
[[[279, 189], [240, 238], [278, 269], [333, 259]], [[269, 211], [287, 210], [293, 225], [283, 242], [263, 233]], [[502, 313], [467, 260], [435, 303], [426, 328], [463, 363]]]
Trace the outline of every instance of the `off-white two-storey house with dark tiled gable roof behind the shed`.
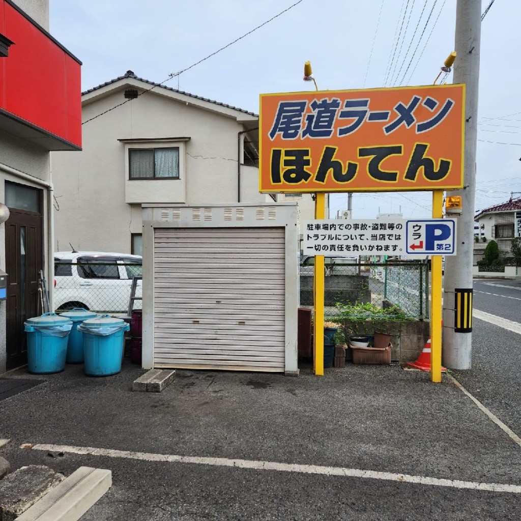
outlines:
[[[83, 151], [52, 156], [56, 251], [141, 254], [143, 204], [285, 199], [258, 192], [258, 116], [247, 110], [127, 71], [82, 94], [82, 120]], [[287, 199], [313, 218], [311, 195]]]

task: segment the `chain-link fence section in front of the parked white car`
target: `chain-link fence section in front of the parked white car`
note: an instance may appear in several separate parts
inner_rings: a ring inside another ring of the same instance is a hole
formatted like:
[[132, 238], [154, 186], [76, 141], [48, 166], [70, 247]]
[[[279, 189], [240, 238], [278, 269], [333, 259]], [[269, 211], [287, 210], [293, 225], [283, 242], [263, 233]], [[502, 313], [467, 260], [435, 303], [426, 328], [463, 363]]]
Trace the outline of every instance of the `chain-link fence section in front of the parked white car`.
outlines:
[[[96, 313], [124, 313], [129, 310], [132, 280], [142, 276], [142, 265], [130, 261], [71, 263], [55, 261], [54, 308], [57, 313], [75, 307]], [[135, 297], [142, 296], [137, 280]], [[133, 302], [141, 309], [141, 300]]]

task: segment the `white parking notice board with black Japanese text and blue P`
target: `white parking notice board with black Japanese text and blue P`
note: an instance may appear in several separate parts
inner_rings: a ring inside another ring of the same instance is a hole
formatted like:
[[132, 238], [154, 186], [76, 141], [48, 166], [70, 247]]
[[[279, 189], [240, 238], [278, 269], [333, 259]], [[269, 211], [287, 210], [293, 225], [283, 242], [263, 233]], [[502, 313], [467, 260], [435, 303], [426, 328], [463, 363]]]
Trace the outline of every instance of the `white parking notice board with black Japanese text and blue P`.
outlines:
[[304, 222], [304, 255], [455, 255], [453, 219]]

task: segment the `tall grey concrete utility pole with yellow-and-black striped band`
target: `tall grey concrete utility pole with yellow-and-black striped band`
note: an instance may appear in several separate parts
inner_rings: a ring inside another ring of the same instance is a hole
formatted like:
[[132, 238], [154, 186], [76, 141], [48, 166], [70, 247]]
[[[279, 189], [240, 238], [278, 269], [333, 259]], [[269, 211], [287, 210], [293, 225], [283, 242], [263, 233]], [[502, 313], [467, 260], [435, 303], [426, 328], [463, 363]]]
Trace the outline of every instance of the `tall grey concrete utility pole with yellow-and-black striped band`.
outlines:
[[[481, 0], [457, 0], [454, 83], [466, 84], [463, 210], [456, 217], [457, 249], [445, 258], [443, 289], [443, 365], [472, 367], [472, 264], [479, 85]], [[461, 316], [467, 314], [462, 327]]]

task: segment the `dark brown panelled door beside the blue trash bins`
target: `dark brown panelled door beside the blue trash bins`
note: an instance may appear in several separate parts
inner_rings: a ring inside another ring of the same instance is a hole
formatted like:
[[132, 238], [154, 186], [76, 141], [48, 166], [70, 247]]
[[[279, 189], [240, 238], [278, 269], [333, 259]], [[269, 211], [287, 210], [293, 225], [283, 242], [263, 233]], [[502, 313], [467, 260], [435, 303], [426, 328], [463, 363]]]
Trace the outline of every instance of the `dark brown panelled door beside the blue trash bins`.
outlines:
[[7, 369], [27, 363], [23, 322], [41, 315], [42, 216], [9, 208], [5, 223], [7, 271]]

